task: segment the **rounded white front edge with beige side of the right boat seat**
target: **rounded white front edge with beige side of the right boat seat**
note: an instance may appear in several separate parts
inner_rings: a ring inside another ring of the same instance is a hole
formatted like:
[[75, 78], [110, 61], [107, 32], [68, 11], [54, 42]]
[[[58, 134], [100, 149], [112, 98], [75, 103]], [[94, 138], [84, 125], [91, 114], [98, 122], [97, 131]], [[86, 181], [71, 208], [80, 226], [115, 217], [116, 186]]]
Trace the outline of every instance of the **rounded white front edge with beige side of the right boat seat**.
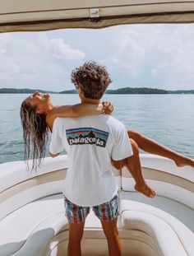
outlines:
[[[134, 230], [141, 231], [140, 238], [136, 236], [135, 239], [142, 240], [144, 238], [145, 244], [149, 244], [155, 251], [154, 255], [187, 256], [178, 235], [166, 221], [158, 216], [141, 211], [124, 211], [122, 212], [122, 228], [131, 234]], [[146, 238], [146, 235], [149, 239]]]

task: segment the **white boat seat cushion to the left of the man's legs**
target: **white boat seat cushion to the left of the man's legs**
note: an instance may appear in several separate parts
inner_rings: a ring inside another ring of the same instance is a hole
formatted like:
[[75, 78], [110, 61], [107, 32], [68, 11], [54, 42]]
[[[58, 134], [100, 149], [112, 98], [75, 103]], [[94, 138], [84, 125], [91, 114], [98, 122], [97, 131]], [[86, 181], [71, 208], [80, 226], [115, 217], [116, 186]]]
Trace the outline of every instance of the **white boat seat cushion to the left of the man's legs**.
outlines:
[[0, 221], [0, 255], [44, 255], [49, 241], [66, 229], [62, 194], [30, 202]]

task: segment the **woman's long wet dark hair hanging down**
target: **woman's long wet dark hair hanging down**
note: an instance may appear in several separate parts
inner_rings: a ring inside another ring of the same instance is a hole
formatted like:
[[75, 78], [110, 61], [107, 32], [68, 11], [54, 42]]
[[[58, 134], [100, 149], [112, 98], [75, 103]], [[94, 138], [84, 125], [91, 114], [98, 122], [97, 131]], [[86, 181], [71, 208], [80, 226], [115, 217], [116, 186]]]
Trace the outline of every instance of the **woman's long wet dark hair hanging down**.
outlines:
[[[24, 158], [27, 170], [37, 170], [44, 160], [48, 141], [46, 114], [37, 114], [35, 106], [24, 100], [21, 104], [21, 125], [24, 138]], [[32, 163], [29, 165], [29, 160]]]

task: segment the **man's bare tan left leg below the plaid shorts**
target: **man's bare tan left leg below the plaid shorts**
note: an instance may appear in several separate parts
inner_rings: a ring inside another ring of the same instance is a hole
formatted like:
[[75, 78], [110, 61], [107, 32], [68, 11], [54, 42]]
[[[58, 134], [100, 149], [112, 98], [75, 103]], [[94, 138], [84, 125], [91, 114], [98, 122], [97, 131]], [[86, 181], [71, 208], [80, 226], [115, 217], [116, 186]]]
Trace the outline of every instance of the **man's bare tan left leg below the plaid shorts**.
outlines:
[[84, 233], [85, 222], [75, 224], [69, 221], [68, 256], [81, 256], [81, 238]]

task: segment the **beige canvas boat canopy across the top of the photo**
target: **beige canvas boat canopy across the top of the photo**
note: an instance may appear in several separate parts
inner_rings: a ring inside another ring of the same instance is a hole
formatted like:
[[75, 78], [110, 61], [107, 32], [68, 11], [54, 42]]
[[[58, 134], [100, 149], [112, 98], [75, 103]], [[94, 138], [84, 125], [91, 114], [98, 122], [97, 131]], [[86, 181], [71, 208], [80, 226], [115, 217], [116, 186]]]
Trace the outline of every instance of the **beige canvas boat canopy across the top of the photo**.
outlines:
[[0, 32], [186, 22], [192, 0], [0, 0]]

